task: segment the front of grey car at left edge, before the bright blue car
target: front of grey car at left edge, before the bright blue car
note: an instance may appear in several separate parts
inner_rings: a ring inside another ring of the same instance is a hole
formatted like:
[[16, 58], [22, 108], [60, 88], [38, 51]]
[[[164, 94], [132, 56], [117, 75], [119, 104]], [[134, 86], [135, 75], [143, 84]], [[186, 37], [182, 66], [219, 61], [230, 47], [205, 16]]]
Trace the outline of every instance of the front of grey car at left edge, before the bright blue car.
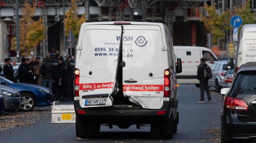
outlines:
[[[0, 81], [0, 84], [2, 82], [3, 81]], [[5, 85], [0, 85], [0, 93], [4, 96], [5, 100], [4, 111], [15, 111], [16, 109], [20, 109], [21, 94], [18, 90]]]

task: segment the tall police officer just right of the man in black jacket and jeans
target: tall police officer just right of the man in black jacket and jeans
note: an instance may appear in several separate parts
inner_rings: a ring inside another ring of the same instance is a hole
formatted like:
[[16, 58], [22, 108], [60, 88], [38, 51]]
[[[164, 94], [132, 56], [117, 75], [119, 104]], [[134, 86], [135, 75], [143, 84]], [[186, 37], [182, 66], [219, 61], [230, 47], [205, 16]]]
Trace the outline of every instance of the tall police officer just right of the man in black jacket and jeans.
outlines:
[[55, 100], [59, 101], [59, 62], [55, 60], [55, 54], [51, 53], [51, 63], [54, 65], [54, 79], [52, 84], [52, 93], [54, 94]]

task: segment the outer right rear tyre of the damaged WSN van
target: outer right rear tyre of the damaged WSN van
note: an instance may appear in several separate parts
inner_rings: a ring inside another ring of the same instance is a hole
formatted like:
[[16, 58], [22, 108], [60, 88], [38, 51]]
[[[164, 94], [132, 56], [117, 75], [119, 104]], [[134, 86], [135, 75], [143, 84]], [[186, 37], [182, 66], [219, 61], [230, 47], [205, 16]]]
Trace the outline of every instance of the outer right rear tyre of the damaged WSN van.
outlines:
[[[172, 117], [172, 113], [171, 113]], [[173, 119], [163, 118], [162, 120], [162, 134], [164, 139], [172, 139], [173, 136]]]

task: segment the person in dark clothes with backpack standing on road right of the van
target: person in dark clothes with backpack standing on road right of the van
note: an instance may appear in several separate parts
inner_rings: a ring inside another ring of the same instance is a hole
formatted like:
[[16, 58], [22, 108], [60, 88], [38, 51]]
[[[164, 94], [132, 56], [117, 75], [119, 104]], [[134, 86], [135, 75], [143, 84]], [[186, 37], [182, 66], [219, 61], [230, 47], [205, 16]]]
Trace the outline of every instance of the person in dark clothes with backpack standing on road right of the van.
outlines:
[[201, 58], [200, 65], [197, 68], [197, 79], [200, 81], [201, 99], [197, 101], [197, 103], [204, 103], [204, 91], [208, 96], [209, 103], [212, 103], [212, 98], [211, 98], [209, 87], [208, 87], [208, 79], [212, 77], [213, 77], [212, 70], [205, 63], [205, 59]]

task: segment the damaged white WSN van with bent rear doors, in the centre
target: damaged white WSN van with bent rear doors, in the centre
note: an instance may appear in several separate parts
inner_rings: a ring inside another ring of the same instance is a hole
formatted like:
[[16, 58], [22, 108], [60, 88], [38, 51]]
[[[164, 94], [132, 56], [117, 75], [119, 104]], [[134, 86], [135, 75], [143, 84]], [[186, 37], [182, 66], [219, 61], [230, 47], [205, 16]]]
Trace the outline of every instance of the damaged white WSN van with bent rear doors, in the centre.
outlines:
[[179, 119], [181, 70], [162, 23], [83, 23], [75, 64], [76, 136], [95, 138], [102, 124], [150, 124], [151, 137], [171, 139]]

